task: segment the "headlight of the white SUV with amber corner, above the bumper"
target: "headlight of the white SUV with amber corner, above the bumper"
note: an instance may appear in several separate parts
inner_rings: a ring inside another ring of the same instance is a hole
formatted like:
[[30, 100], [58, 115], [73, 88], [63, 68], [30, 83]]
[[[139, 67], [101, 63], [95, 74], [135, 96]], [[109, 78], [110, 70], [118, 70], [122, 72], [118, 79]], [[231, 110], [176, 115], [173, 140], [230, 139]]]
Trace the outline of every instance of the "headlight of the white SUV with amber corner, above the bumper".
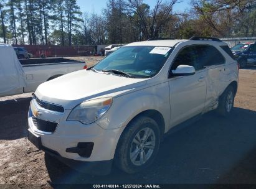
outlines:
[[90, 124], [105, 114], [112, 104], [113, 98], [99, 98], [84, 101], [75, 107], [67, 121], [80, 121], [83, 124]]

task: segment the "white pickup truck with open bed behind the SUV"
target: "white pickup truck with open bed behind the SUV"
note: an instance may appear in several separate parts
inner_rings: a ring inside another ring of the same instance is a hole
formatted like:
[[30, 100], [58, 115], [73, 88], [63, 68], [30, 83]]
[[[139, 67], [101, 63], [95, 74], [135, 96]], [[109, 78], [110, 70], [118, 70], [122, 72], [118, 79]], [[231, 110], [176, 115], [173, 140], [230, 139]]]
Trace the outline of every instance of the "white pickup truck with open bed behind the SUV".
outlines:
[[7, 44], [0, 44], [0, 57], [0, 97], [34, 92], [45, 81], [86, 67], [85, 62], [66, 58], [18, 60]]

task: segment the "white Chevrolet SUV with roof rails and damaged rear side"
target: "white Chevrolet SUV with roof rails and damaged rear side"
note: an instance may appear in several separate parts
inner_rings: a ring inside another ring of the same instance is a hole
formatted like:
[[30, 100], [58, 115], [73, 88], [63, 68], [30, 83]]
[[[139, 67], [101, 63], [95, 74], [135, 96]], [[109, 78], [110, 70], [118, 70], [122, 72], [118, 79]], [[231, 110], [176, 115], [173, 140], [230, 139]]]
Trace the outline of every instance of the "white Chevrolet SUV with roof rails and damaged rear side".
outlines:
[[128, 44], [89, 70], [40, 85], [29, 140], [82, 172], [107, 174], [113, 162], [143, 170], [174, 126], [213, 109], [230, 114], [239, 78], [230, 54], [214, 38]]

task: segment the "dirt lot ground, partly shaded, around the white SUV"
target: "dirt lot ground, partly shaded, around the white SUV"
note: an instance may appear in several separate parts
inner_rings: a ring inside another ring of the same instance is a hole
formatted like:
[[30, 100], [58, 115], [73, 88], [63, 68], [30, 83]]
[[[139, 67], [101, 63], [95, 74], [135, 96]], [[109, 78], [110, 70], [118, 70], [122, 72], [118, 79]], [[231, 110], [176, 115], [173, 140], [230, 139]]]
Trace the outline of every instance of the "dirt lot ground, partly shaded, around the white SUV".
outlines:
[[[101, 57], [80, 57], [88, 64]], [[166, 138], [156, 162], [128, 175], [75, 172], [27, 141], [31, 94], [0, 98], [0, 184], [49, 188], [55, 183], [254, 183], [256, 184], [256, 67], [240, 70], [229, 119], [207, 113]]]

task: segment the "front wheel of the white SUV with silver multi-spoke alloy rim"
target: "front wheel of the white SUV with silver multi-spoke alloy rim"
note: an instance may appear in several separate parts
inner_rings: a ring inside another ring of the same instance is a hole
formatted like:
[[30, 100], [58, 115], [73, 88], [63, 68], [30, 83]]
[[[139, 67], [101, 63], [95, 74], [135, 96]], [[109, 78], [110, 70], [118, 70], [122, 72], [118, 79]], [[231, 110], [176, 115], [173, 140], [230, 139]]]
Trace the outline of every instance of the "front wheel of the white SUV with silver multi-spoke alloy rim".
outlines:
[[[159, 126], [154, 119], [146, 116], [133, 119], [123, 131], [116, 147], [116, 167], [126, 173], [140, 172], [149, 167], [158, 154], [160, 137]], [[143, 142], [143, 138], [147, 139]]]

